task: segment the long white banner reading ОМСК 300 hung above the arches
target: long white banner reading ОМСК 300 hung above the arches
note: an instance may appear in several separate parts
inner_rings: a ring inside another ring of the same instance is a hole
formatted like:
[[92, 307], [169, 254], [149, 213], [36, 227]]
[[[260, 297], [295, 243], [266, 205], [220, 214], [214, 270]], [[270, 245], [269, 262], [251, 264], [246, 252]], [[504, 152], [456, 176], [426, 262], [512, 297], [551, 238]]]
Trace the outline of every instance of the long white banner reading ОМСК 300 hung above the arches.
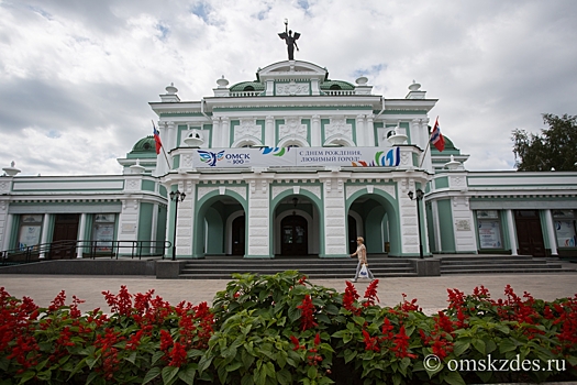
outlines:
[[262, 147], [195, 150], [195, 168], [212, 167], [397, 167], [400, 148], [378, 147]]

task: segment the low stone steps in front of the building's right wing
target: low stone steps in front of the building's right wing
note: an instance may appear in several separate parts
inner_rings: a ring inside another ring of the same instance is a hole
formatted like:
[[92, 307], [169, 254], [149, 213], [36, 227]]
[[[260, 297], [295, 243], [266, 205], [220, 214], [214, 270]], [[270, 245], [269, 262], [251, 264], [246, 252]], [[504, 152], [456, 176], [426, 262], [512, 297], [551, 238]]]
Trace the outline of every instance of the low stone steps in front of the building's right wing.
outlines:
[[443, 255], [441, 275], [447, 274], [518, 274], [518, 273], [575, 273], [577, 265], [559, 260], [526, 255]]

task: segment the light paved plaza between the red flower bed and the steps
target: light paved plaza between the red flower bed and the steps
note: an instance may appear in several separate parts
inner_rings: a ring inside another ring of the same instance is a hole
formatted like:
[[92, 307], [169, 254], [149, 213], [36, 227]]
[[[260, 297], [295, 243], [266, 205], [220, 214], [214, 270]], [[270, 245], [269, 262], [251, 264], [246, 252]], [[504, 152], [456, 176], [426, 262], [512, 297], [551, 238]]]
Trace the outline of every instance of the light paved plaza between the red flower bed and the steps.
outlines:
[[[121, 285], [126, 285], [130, 293], [145, 293], [154, 289], [155, 294], [176, 305], [181, 300], [192, 304], [212, 302], [214, 294], [226, 287], [229, 280], [214, 279], [156, 279], [151, 276], [71, 276], [71, 275], [1, 275], [0, 287], [4, 287], [12, 296], [31, 297], [42, 307], [65, 290], [67, 304], [73, 295], [85, 299], [80, 309], [84, 311], [100, 307], [107, 311], [108, 306], [102, 290], [118, 293]], [[311, 279], [311, 283], [333, 287], [344, 292], [344, 279]], [[436, 312], [446, 307], [447, 288], [457, 288], [470, 294], [475, 286], [484, 285], [493, 298], [502, 298], [503, 288], [511, 285], [514, 292], [522, 296], [528, 292], [535, 298], [553, 300], [561, 297], [572, 297], [577, 294], [577, 274], [496, 274], [496, 275], [445, 275], [440, 277], [381, 278], [378, 285], [380, 305], [395, 306], [402, 300], [404, 293], [409, 299], [418, 298], [418, 305], [426, 314]], [[363, 293], [368, 280], [360, 279], [355, 284]]]

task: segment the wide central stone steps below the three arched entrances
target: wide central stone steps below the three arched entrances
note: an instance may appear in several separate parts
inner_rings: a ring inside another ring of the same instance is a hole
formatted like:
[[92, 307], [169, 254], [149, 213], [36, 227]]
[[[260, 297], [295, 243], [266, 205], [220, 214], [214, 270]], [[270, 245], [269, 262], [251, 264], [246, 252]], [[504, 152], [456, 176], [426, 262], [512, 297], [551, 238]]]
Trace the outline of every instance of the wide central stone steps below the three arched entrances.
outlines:
[[[376, 278], [413, 277], [417, 272], [407, 258], [369, 255], [369, 267]], [[273, 260], [247, 260], [234, 256], [207, 256], [191, 260], [180, 271], [182, 279], [230, 279], [233, 273], [270, 275], [296, 270], [309, 278], [353, 278], [356, 258], [319, 258], [317, 256], [281, 256]]]

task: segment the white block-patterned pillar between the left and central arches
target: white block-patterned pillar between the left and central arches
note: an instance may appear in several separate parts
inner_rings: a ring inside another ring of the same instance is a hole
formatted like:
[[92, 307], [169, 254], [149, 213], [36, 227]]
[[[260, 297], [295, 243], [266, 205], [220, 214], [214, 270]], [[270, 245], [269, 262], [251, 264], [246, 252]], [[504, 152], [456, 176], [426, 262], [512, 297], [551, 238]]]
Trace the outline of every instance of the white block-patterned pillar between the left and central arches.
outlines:
[[273, 258], [269, 228], [274, 227], [270, 218], [270, 188], [265, 178], [248, 179], [248, 229], [245, 258]]

